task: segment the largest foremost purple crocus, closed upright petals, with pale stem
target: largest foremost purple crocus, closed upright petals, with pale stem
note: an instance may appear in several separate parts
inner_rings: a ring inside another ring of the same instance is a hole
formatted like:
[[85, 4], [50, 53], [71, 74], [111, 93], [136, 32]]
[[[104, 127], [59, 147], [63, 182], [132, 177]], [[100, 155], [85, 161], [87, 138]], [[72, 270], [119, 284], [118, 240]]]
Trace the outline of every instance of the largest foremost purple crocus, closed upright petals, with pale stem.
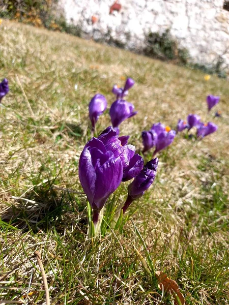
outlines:
[[119, 187], [122, 177], [120, 157], [116, 157], [101, 140], [93, 137], [79, 158], [79, 180], [94, 210], [93, 222], [97, 232], [99, 213], [107, 198]]

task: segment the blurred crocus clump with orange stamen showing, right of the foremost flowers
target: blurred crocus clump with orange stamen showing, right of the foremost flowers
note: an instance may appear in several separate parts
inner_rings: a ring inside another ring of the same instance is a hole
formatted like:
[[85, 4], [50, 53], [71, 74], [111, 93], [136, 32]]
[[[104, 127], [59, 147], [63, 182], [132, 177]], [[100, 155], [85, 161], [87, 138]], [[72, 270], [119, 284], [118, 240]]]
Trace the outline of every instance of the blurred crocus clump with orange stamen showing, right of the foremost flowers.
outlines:
[[144, 145], [143, 153], [152, 147], [155, 147], [154, 154], [169, 146], [176, 136], [176, 131], [170, 127], [164, 126], [161, 123], [154, 124], [149, 131], [141, 133], [142, 142]]

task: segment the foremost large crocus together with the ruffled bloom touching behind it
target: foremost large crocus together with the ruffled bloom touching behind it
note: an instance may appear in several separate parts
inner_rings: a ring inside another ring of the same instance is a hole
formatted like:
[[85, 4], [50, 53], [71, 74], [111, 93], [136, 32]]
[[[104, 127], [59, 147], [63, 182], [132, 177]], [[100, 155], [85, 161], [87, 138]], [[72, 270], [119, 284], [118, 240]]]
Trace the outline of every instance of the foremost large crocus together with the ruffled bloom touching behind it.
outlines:
[[100, 230], [103, 207], [121, 181], [138, 176], [144, 160], [128, 144], [129, 136], [119, 137], [112, 127], [83, 148], [79, 159], [79, 179], [93, 209], [95, 234]]

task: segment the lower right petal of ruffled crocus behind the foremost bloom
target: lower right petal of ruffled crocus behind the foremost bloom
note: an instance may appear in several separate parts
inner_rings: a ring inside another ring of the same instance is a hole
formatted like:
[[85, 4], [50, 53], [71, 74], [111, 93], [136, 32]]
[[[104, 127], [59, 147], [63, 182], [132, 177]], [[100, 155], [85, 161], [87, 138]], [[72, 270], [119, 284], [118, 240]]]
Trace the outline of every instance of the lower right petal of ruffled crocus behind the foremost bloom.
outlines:
[[137, 176], [144, 167], [144, 160], [140, 155], [136, 154], [130, 160], [128, 167], [123, 170], [122, 181], [128, 181]]

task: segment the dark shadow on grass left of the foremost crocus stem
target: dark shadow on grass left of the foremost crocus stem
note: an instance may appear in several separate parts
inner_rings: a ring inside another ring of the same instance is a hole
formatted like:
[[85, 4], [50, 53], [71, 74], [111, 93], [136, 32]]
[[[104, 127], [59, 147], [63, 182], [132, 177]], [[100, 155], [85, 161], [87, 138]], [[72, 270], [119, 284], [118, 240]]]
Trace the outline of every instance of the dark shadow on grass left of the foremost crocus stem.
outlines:
[[[17, 198], [17, 197], [16, 197]], [[15, 199], [15, 204], [8, 208], [1, 220], [23, 231], [48, 231], [55, 227], [63, 232], [77, 220], [87, 230], [85, 200], [80, 194], [72, 194], [65, 189], [53, 186], [35, 187], [26, 193], [23, 199]]]

